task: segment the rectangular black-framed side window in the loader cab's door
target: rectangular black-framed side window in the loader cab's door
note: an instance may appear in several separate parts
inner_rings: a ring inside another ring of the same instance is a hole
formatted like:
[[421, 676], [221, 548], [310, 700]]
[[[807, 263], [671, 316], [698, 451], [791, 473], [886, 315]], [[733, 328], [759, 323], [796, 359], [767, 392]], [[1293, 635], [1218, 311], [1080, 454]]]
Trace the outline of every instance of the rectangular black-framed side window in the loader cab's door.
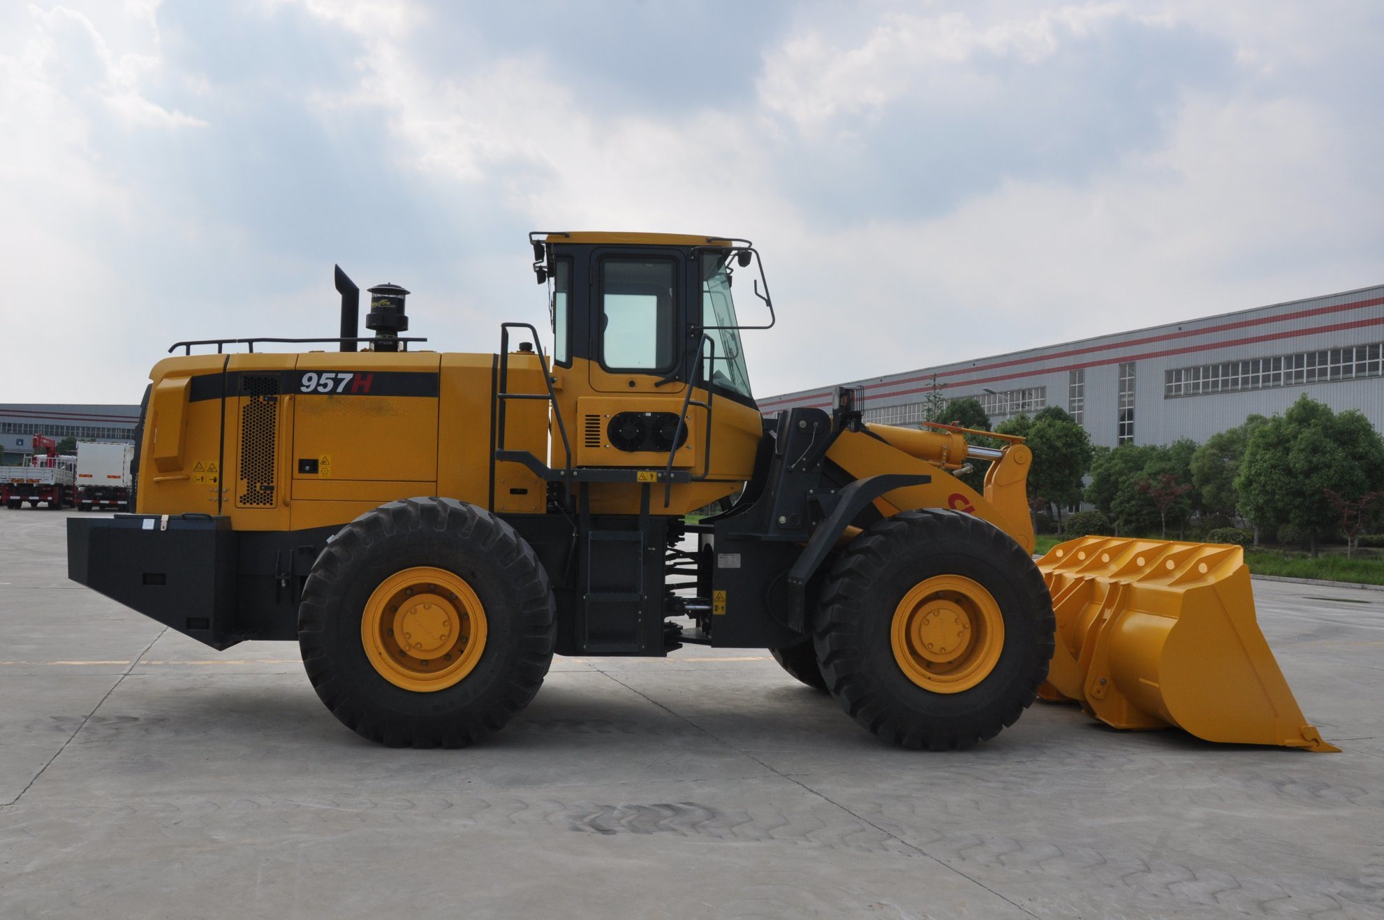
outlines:
[[606, 370], [667, 373], [677, 364], [677, 263], [601, 262], [601, 364]]

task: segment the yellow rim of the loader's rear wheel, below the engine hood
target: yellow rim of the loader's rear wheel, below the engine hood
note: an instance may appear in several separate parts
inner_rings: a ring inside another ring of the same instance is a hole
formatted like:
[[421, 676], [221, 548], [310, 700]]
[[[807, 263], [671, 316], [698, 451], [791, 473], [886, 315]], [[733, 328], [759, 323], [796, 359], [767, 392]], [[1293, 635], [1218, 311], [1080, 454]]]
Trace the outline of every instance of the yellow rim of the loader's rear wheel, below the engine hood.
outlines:
[[421, 565], [386, 578], [365, 601], [360, 642], [389, 683], [433, 693], [455, 686], [486, 648], [486, 610], [465, 579]]

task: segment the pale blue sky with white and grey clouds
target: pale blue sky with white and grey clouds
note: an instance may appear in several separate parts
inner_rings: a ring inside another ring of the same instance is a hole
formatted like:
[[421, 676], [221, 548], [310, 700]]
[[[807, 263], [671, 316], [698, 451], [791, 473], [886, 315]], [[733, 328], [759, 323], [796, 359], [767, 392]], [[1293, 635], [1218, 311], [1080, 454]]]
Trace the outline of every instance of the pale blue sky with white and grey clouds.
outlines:
[[[1376, 0], [0, 4], [0, 402], [547, 323], [529, 230], [752, 238], [757, 395], [1384, 281]], [[754, 321], [742, 299], [743, 321]]]

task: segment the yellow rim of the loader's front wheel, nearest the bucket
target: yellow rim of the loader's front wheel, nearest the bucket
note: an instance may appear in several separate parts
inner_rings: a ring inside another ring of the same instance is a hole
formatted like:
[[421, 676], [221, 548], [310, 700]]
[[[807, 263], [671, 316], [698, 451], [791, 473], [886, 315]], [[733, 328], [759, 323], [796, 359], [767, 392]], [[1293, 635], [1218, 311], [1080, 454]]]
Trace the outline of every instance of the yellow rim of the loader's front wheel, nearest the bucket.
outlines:
[[977, 582], [934, 575], [898, 601], [890, 644], [894, 661], [919, 687], [960, 693], [994, 671], [1005, 647], [1005, 619]]

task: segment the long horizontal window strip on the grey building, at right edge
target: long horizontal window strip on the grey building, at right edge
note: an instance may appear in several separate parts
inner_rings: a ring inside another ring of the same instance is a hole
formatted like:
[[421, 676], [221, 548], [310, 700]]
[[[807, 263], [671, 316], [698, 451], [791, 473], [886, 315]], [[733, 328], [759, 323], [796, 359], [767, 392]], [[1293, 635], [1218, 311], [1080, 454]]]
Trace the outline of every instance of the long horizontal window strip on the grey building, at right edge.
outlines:
[[1197, 364], [1164, 371], [1163, 398], [1205, 396], [1381, 375], [1381, 342], [1347, 345], [1275, 357]]

